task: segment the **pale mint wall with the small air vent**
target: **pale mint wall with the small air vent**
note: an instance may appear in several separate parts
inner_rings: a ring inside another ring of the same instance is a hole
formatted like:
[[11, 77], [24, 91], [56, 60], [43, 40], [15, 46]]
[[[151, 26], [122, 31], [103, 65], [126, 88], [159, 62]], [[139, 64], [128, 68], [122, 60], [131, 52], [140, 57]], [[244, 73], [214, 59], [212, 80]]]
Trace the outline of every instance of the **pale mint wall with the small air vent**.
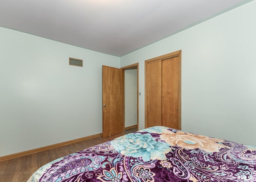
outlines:
[[0, 27], [0, 156], [102, 133], [102, 65], [120, 58]]

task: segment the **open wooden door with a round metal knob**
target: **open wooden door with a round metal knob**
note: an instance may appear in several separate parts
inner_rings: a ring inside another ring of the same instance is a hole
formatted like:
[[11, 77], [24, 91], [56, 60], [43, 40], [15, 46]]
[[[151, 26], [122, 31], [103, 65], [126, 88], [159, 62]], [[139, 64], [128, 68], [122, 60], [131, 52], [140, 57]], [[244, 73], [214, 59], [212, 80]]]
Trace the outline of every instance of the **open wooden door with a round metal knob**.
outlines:
[[122, 69], [102, 66], [102, 137], [124, 131]]

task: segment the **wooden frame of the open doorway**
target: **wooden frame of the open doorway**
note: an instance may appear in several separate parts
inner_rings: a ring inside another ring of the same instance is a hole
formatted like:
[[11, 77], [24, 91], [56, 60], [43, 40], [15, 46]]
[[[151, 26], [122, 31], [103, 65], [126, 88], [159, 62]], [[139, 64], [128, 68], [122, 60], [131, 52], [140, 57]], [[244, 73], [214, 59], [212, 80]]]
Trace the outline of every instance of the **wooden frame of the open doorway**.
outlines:
[[[137, 130], [139, 127], [139, 63], [134, 63], [132, 65], [128, 65], [126, 67], [122, 67], [122, 72], [123, 72], [123, 108], [124, 108], [124, 76], [125, 76], [125, 70], [132, 70], [132, 69], [137, 69]], [[124, 131], [125, 131], [125, 112], [123, 114], [123, 125], [124, 125]]]

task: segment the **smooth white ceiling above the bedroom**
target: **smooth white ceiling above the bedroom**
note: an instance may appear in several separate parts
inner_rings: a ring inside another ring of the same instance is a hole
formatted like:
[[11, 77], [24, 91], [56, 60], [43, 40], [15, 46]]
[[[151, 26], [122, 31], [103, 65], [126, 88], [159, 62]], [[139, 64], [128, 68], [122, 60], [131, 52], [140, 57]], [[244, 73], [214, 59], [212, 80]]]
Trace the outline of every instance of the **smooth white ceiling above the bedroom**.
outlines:
[[122, 56], [252, 0], [0, 0], [0, 26]]

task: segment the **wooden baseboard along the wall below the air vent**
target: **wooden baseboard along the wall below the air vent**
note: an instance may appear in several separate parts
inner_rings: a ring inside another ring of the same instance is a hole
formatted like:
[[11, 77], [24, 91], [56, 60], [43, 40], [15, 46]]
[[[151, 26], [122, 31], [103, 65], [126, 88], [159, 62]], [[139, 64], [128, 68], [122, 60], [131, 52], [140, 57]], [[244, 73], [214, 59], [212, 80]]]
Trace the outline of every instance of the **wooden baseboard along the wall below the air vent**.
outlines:
[[100, 136], [102, 136], [102, 133], [99, 133], [99, 134], [96, 134], [96, 135], [90, 135], [90, 136], [87, 136], [87, 137], [82, 137], [82, 138], [74, 139], [74, 140], [70, 140], [70, 141], [65, 141], [65, 142], [61, 142], [61, 143], [56, 143], [56, 144], [53, 144], [53, 145], [48, 145], [48, 146], [45, 146], [45, 147], [40, 147], [40, 148], [37, 148], [37, 149], [32, 149], [32, 150], [28, 150], [28, 151], [24, 151], [24, 152], [5, 155], [5, 156], [0, 157], [0, 162], [2, 162], [4, 160], [10, 160], [10, 159], [22, 157], [22, 156], [25, 156], [25, 155], [30, 155], [30, 154], [42, 152], [42, 151], [47, 151], [47, 150], [50, 150], [50, 149], [55, 149], [55, 148], [58, 148], [58, 147], [62, 147], [62, 146], [69, 145], [69, 144], [72, 144], [72, 143], [78, 143], [80, 141], [93, 139], [93, 138], [100, 137]]

